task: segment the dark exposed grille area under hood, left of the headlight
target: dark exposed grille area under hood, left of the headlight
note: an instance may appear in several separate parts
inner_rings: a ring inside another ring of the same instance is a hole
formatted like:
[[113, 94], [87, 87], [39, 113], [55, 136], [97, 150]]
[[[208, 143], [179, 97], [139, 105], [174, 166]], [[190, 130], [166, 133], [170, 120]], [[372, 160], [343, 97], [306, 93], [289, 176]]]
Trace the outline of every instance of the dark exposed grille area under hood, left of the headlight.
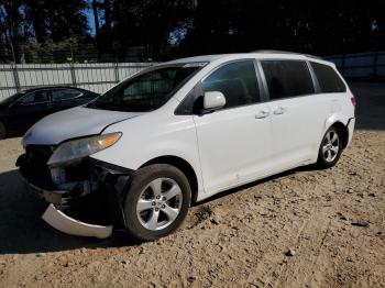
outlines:
[[51, 170], [47, 162], [53, 147], [47, 145], [29, 145], [25, 148], [25, 162], [21, 168], [24, 177], [38, 187], [52, 188]]

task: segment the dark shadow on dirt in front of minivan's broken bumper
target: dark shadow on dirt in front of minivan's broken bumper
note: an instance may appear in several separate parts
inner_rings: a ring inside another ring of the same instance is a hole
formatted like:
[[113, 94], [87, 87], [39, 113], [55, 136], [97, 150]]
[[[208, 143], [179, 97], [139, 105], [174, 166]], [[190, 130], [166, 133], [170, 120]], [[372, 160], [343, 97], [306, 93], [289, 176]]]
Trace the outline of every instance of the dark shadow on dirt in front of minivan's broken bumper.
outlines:
[[46, 207], [47, 203], [28, 191], [18, 170], [0, 174], [0, 255], [139, 244], [122, 233], [107, 240], [61, 233], [41, 219]]

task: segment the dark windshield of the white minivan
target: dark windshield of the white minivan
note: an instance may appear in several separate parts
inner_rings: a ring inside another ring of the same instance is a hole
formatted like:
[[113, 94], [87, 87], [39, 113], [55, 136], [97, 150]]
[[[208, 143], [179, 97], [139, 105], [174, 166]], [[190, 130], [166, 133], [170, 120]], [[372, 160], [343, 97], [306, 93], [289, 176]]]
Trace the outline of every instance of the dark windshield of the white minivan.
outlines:
[[119, 84], [87, 107], [125, 112], [155, 110], [204, 65], [189, 63], [151, 69]]

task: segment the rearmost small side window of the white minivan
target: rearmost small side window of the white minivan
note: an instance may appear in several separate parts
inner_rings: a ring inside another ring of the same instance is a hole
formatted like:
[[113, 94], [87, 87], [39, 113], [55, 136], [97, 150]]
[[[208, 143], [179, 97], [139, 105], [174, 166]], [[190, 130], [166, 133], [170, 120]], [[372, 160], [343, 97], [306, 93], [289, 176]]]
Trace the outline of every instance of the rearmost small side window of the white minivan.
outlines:
[[332, 67], [315, 62], [311, 62], [310, 64], [316, 74], [322, 93], [346, 91], [345, 85]]

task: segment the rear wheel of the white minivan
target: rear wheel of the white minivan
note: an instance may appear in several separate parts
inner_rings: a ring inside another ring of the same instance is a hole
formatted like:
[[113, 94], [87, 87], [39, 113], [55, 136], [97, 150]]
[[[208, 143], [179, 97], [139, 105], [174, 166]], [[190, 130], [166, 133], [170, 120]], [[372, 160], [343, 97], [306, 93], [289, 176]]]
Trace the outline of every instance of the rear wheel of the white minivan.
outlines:
[[324, 133], [318, 151], [317, 166], [319, 168], [330, 168], [337, 164], [342, 153], [341, 133], [331, 126]]

